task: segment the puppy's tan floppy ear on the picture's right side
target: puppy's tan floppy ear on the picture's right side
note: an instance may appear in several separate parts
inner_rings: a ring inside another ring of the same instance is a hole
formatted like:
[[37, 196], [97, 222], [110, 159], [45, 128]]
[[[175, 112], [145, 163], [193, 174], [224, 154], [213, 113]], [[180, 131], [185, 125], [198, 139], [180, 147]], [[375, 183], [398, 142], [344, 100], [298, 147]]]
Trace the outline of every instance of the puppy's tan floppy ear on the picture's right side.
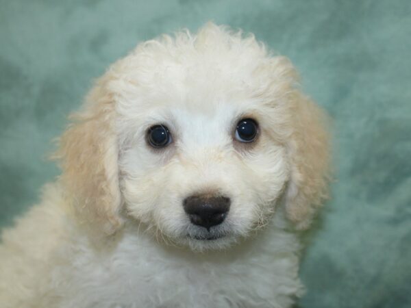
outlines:
[[316, 209], [327, 197], [327, 116], [299, 90], [292, 94], [291, 108], [293, 129], [288, 144], [291, 174], [286, 193], [286, 213], [297, 229], [307, 229]]

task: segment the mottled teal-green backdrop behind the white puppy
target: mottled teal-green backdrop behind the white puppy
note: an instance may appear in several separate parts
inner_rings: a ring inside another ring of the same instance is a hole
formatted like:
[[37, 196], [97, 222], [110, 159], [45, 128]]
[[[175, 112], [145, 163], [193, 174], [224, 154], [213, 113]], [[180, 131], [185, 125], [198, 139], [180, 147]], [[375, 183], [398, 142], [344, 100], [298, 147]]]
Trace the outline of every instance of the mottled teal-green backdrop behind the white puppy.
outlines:
[[241, 27], [290, 57], [334, 118], [332, 200], [299, 307], [411, 307], [411, 1], [0, 0], [0, 226], [58, 174], [51, 140], [141, 40]]

